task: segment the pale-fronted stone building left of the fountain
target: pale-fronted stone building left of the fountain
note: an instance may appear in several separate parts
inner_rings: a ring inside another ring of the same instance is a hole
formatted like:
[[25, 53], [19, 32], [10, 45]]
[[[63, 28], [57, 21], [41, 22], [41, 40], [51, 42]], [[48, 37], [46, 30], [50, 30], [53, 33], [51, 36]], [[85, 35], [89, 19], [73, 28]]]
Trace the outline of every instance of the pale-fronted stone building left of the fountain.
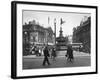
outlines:
[[54, 33], [51, 27], [44, 28], [37, 24], [35, 20], [23, 25], [23, 45], [27, 48], [32, 46], [42, 47], [54, 44]]

